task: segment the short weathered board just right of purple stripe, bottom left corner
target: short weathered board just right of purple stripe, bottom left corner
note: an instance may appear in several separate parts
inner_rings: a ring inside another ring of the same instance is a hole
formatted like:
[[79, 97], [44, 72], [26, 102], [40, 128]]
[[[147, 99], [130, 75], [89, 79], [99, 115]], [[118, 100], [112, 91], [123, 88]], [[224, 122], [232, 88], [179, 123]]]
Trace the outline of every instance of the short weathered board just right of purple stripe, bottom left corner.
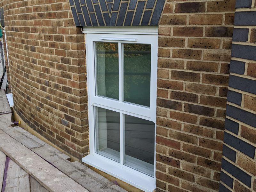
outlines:
[[6, 157], [3, 192], [30, 192], [29, 174]]

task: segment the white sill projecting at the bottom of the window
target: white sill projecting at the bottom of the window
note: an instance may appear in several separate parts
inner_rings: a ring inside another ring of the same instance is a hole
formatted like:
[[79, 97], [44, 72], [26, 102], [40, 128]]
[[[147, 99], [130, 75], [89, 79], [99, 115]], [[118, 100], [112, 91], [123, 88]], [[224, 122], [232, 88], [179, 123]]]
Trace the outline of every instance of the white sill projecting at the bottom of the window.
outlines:
[[108, 173], [130, 185], [146, 192], [152, 192], [156, 188], [156, 179], [138, 172], [130, 167], [116, 163], [107, 157], [93, 153], [82, 158], [82, 162], [89, 164], [103, 172]]

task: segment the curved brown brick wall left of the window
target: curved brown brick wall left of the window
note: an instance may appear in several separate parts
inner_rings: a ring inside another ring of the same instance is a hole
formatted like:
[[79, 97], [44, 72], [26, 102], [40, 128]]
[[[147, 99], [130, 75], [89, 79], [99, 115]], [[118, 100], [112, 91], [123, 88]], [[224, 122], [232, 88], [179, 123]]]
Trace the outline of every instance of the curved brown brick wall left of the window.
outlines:
[[85, 45], [68, 0], [4, 0], [14, 109], [36, 132], [88, 153]]

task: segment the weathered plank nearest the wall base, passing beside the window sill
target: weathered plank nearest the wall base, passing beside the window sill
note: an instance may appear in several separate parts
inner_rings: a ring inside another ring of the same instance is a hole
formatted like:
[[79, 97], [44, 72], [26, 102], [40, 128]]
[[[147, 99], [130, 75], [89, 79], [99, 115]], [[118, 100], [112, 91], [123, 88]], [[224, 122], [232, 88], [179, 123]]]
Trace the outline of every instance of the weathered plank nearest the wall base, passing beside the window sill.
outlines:
[[[2, 121], [2, 122], [1, 122]], [[20, 127], [8, 127], [8, 121], [0, 118], [0, 129], [9, 134], [11, 137], [25, 145], [27, 148], [40, 155], [47, 162], [51, 163], [61, 172], [65, 173], [71, 179], [82, 185], [84, 188], [91, 192], [126, 192], [123, 188], [117, 186], [113, 182], [104, 178], [100, 174], [92, 171], [90, 168], [82, 165], [71, 163], [66, 159], [56, 155], [56, 151], [51, 150], [51, 146], [44, 141], [38, 139], [29, 132], [21, 129]]]

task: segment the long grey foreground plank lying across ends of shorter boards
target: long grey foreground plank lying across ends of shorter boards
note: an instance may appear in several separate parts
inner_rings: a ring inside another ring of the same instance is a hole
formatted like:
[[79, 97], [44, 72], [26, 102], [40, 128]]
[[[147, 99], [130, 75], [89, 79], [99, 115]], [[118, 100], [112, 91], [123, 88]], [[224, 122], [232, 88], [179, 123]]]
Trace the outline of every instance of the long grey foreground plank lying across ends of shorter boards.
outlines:
[[2, 130], [0, 130], [0, 137], [0, 150], [50, 192], [88, 192], [88, 190]]

